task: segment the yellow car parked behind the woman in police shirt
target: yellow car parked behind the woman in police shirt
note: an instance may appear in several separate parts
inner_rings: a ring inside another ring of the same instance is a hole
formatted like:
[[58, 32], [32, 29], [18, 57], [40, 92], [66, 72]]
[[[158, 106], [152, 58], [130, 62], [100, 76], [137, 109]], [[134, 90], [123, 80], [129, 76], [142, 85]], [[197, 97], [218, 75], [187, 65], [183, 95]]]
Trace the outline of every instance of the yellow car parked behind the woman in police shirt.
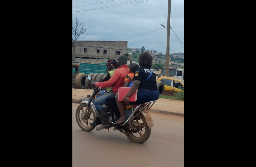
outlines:
[[173, 77], [159, 77], [156, 81], [162, 81], [165, 85], [165, 90], [174, 90], [181, 92], [184, 90], [184, 80]]

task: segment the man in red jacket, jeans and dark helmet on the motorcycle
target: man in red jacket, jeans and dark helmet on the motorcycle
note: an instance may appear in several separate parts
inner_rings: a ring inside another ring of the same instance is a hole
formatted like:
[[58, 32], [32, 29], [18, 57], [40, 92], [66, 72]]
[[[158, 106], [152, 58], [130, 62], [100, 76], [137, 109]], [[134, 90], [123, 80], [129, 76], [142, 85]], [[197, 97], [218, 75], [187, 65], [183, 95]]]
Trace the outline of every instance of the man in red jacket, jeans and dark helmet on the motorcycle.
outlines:
[[103, 104], [106, 103], [106, 98], [112, 94], [116, 94], [118, 92], [118, 88], [122, 87], [124, 85], [124, 78], [127, 74], [130, 73], [129, 68], [127, 67], [127, 61], [128, 61], [129, 54], [121, 54], [117, 58], [117, 66], [118, 69], [116, 69], [113, 73], [113, 76], [105, 82], [91, 82], [91, 85], [95, 85], [97, 87], [106, 88], [106, 87], [112, 87], [112, 92], [108, 92], [104, 94], [103, 96], [99, 96], [94, 100], [94, 106], [95, 109], [98, 112], [98, 116], [101, 120], [101, 125], [99, 127], [96, 127], [96, 130], [102, 130], [106, 127], [109, 127], [109, 119], [108, 119], [108, 113], [105, 108], [102, 107]]

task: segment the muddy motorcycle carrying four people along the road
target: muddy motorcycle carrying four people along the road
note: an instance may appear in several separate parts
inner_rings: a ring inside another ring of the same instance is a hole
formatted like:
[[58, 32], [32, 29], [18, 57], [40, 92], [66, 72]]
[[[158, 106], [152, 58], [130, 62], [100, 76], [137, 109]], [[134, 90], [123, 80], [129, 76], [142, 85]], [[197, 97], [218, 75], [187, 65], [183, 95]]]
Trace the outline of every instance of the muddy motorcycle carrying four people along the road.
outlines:
[[[88, 75], [86, 79], [91, 81], [91, 77]], [[90, 85], [90, 83], [89, 83]], [[101, 92], [100, 92], [101, 91]], [[87, 95], [87, 98], [80, 99], [80, 105], [77, 107], [75, 112], [75, 118], [78, 126], [83, 130], [90, 132], [94, 130], [95, 126], [90, 126], [90, 123], [94, 122], [97, 118], [97, 110], [93, 104], [95, 98], [100, 95], [104, 95], [105, 91], [102, 91], [100, 87], [93, 86], [93, 93]], [[126, 121], [121, 125], [112, 125], [111, 120], [114, 119], [115, 115], [108, 105], [102, 105], [106, 109], [109, 116], [110, 127], [113, 131], [120, 131], [125, 134], [126, 137], [135, 143], [143, 143], [148, 140], [151, 135], [151, 128], [154, 126], [154, 122], [151, 118], [148, 110], [154, 105], [156, 101], [146, 102], [144, 104], [134, 104], [125, 106], [125, 117]]]

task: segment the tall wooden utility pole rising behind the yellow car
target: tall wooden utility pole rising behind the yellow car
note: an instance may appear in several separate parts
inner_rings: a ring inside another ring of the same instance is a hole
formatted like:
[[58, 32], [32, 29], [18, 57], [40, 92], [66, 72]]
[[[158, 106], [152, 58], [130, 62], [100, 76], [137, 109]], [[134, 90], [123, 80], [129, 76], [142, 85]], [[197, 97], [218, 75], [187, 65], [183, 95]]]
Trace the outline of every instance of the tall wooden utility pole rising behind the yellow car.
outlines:
[[168, 16], [167, 16], [167, 44], [166, 44], [166, 67], [165, 74], [169, 77], [170, 62], [170, 17], [171, 17], [171, 0], [168, 0]]

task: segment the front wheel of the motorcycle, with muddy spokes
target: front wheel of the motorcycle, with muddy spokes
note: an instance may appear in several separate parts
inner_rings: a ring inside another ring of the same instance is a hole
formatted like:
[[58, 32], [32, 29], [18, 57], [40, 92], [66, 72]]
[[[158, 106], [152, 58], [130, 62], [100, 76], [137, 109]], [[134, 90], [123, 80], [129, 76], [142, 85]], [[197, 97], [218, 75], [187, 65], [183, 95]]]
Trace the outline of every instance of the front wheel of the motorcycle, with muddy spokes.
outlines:
[[75, 119], [78, 126], [83, 130], [90, 132], [94, 130], [95, 126], [91, 126], [89, 123], [93, 123], [96, 120], [96, 116], [92, 112], [92, 109], [87, 108], [87, 104], [81, 103], [75, 111]]

